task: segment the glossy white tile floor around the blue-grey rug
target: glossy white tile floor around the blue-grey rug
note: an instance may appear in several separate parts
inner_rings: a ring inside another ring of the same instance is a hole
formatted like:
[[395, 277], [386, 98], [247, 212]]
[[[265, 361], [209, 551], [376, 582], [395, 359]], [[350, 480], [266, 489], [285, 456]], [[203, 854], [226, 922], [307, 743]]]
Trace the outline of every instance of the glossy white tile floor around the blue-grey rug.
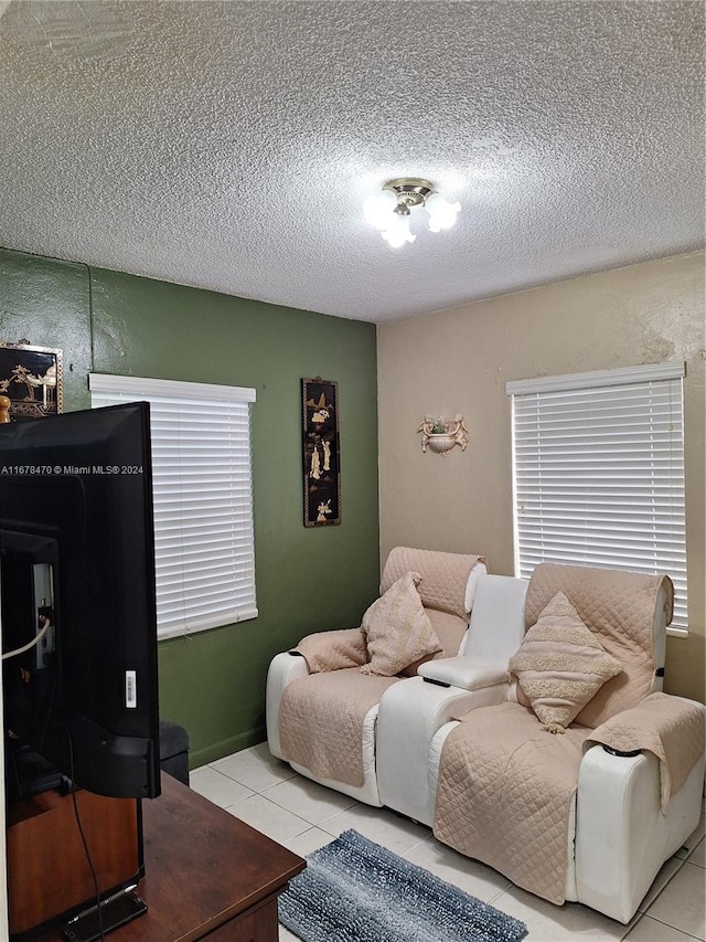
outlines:
[[[302, 857], [353, 827], [523, 920], [530, 929], [528, 942], [706, 942], [703, 813], [700, 826], [686, 846], [666, 861], [635, 918], [622, 925], [579, 903], [555, 907], [513, 887], [490, 867], [443, 847], [426, 827], [298, 775], [274, 759], [265, 743], [194, 770], [191, 787]], [[296, 942], [296, 936], [282, 927], [279, 939]]]

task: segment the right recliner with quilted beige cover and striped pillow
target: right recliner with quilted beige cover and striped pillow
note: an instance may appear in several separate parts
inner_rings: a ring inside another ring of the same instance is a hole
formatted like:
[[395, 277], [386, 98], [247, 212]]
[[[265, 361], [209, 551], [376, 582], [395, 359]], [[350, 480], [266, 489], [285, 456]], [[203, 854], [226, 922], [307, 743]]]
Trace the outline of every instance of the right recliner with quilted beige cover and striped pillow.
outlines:
[[663, 576], [536, 568], [509, 701], [432, 740], [439, 840], [552, 902], [632, 918], [700, 815], [705, 708], [660, 692], [672, 593]]

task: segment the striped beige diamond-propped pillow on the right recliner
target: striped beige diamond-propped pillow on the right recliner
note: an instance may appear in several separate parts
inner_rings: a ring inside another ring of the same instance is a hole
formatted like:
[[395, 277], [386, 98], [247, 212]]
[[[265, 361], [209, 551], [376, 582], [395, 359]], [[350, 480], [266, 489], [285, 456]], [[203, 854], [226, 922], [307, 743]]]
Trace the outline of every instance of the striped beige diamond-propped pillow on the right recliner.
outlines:
[[546, 730], [563, 733], [622, 665], [557, 592], [510, 658], [509, 669], [517, 680], [517, 701], [531, 707]]

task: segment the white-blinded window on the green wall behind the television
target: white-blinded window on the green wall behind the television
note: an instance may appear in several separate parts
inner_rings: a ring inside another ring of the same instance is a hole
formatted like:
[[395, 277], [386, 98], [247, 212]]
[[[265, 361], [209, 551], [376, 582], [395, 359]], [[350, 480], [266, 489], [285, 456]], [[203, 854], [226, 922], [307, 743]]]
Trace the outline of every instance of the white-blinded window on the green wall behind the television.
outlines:
[[160, 638], [257, 617], [254, 389], [89, 377], [92, 405], [150, 403]]

